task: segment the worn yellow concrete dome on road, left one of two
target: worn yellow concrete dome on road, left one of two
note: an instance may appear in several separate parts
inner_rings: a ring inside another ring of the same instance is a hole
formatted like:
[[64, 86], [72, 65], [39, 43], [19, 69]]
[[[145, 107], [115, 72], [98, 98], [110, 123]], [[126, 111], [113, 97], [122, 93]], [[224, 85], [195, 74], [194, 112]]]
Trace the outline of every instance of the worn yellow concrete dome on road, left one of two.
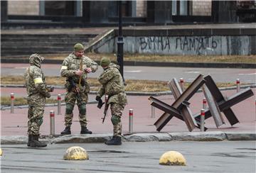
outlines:
[[63, 156], [64, 160], [89, 160], [87, 152], [82, 147], [69, 147]]

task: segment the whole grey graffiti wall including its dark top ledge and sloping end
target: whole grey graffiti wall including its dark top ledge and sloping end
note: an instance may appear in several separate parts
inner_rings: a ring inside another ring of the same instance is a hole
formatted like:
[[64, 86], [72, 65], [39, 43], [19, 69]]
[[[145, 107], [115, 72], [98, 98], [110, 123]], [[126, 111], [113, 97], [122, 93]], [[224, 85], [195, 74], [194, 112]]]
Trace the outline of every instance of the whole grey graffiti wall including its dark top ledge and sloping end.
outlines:
[[[220, 30], [218, 28], [203, 30], [123, 30], [124, 53], [255, 55], [256, 35], [254, 32], [253, 28], [230, 28], [228, 31], [227, 29]], [[88, 47], [92, 52], [117, 52], [117, 34], [115, 36], [113, 34], [105, 35], [104, 39], [98, 40], [96, 44], [90, 44]]]

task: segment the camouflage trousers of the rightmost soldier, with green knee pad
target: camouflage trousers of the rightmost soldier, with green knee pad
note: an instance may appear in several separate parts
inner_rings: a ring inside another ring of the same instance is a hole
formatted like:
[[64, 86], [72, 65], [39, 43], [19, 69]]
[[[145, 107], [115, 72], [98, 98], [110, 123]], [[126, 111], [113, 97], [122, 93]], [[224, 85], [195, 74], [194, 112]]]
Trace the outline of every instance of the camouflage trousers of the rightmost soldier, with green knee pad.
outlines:
[[121, 121], [121, 117], [122, 117], [122, 111], [124, 111], [124, 105], [120, 105], [117, 103], [111, 103], [110, 104], [110, 110], [111, 110], [111, 115], [112, 118], [113, 116], [116, 116], [119, 118], [119, 122], [118, 123], [113, 123], [113, 135], [115, 136], [120, 136], [122, 135], [122, 121]]

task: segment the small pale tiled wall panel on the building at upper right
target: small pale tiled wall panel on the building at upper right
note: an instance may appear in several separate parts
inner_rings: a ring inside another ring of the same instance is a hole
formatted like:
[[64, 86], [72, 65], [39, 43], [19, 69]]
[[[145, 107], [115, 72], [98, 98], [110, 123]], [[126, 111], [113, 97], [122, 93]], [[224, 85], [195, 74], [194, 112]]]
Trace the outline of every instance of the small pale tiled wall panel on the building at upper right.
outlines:
[[211, 1], [193, 1], [193, 16], [210, 16], [211, 15]]

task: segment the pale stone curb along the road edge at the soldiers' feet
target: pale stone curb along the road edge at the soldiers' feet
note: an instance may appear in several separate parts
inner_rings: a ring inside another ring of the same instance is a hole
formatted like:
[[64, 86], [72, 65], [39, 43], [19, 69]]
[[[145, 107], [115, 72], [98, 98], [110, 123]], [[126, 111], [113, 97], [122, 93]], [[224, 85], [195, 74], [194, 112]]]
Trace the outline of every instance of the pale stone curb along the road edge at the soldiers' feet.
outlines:
[[[42, 140], [49, 144], [58, 143], [104, 143], [112, 138], [112, 134], [92, 134], [92, 135], [64, 135], [53, 137], [50, 135], [43, 136]], [[191, 133], [134, 133], [127, 134], [122, 138], [123, 142], [167, 142], [167, 141], [223, 141], [223, 140], [256, 140], [256, 133], [224, 133], [222, 131], [212, 132], [191, 132]], [[1, 145], [26, 144], [28, 137], [25, 135], [18, 136], [1, 136]]]

